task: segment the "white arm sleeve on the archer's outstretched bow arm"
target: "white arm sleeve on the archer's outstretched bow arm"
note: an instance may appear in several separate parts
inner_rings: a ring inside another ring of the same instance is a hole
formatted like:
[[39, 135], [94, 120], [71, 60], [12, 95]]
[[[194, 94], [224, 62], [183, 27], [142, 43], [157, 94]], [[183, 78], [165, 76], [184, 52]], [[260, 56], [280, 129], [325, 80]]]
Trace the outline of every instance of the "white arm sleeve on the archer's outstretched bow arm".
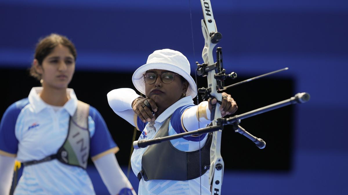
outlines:
[[[198, 126], [199, 115], [199, 126]], [[203, 101], [196, 106], [193, 106], [184, 111], [182, 115], [183, 129], [187, 131], [197, 130], [198, 128], [206, 127], [210, 122], [210, 110], [208, 101]]]

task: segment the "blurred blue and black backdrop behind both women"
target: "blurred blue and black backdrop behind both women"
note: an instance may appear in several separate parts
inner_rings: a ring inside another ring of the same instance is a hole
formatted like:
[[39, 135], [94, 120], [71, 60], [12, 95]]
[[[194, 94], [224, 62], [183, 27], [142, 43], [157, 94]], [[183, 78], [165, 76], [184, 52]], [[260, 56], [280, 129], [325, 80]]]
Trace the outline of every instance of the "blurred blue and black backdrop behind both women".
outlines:
[[[299, 92], [311, 95], [305, 104], [242, 120], [242, 127], [266, 141], [263, 150], [225, 126], [222, 194], [347, 194], [348, 2], [211, 3], [223, 36], [217, 46], [223, 48], [224, 68], [238, 74], [226, 84], [289, 68], [228, 89], [238, 103], [236, 114]], [[113, 113], [106, 94], [134, 88], [133, 72], [157, 49], [181, 51], [195, 78], [195, 62], [203, 63], [201, 19], [199, 0], [0, 0], [0, 117], [40, 85], [28, 71], [38, 39], [67, 36], [78, 53], [69, 87], [101, 112], [120, 147], [116, 157], [137, 191], [138, 180], [127, 171], [134, 128]], [[197, 83], [206, 86], [206, 79]], [[96, 193], [108, 194], [92, 162], [88, 173]]]

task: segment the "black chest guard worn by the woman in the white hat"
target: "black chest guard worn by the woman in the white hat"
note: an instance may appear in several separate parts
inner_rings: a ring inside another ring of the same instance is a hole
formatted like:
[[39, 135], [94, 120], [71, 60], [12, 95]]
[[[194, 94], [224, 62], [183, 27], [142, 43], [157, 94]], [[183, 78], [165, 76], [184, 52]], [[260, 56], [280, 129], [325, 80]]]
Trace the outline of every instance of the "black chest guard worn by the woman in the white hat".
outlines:
[[[170, 117], [165, 120], [155, 138], [168, 136]], [[170, 141], [148, 146], [142, 157], [142, 170], [138, 179], [190, 180], [202, 176], [210, 165], [212, 134], [208, 134], [205, 145], [199, 150], [184, 152], [176, 149]], [[200, 166], [201, 165], [201, 166]]]

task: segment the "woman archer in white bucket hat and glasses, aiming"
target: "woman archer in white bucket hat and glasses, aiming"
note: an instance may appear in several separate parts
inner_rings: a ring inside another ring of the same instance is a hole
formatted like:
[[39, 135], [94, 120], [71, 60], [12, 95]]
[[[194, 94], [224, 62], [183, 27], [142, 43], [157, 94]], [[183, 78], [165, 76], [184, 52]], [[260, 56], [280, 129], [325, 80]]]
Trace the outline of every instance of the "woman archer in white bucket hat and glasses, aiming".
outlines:
[[[153, 52], [134, 72], [132, 81], [146, 97], [119, 88], [108, 93], [108, 101], [118, 116], [142, 132], [139, 140], [196, 130], [211, 122], [216, 99], [193, 104], [197, 86], [182, 53], [170, 49]], [[221, 115], [236, 112], [231, 95], [222, 93], [222, 97]], [[140, 181], [138, 193], [199, 194], [201, 190], [201, 194], [210, 194], [205, 167], [209, 166], [210, 143], [210, 135], [202, 134], [134, 150], [131, 164]], [[198, 152], [203, 157], [200, 162]]]

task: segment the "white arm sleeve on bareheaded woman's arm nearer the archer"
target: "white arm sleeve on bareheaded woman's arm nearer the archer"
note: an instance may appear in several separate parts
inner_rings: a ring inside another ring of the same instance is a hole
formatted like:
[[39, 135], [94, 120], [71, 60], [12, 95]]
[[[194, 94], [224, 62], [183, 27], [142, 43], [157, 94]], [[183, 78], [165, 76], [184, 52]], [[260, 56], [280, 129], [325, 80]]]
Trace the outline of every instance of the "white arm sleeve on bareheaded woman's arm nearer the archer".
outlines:
[[106, 154], [93, 162], [110, 194], [120, 194], [121, 189], [128, 188], [132, 190], [133, 195], [136, 195], [114, 153]]

